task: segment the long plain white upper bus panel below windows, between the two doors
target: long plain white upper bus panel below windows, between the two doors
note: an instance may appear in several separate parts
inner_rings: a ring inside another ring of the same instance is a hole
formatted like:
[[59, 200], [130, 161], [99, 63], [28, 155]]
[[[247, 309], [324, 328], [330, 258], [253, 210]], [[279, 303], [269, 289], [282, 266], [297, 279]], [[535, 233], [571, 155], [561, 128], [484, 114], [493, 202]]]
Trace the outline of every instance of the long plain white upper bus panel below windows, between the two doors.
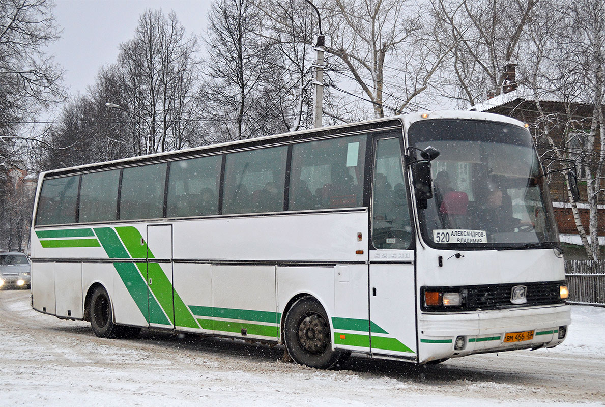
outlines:
[[174, 259], [365, 261], [367, 211], [175, 221]]

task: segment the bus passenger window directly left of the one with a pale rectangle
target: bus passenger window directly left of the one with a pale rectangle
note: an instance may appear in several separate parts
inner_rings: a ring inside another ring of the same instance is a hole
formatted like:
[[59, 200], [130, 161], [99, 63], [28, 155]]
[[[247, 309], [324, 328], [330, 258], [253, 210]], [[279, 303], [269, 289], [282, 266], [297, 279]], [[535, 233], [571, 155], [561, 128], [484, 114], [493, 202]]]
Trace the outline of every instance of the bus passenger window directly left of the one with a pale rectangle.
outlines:
[[287, 151], [279, 146], [227, 154], [223, 213], [283, 210]]

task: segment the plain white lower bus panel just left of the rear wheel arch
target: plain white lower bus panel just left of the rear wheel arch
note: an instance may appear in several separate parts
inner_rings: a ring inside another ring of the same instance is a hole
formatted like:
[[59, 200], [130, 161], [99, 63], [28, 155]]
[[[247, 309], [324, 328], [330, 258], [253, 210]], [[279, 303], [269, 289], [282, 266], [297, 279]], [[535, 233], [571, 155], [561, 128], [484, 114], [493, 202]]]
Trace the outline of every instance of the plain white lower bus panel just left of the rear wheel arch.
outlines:
[[54, 263], [56, 314], [82, 319], [82, 263]]

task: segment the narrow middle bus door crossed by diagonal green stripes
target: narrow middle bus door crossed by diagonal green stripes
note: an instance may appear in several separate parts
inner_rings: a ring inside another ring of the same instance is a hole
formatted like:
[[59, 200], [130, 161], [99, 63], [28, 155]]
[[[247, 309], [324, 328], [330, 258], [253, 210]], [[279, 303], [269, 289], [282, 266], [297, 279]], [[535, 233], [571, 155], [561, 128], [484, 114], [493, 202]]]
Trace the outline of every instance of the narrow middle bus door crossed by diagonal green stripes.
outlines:
[[147, 226], [147, 301], [150, 327], [174, 328], [172, 225]]

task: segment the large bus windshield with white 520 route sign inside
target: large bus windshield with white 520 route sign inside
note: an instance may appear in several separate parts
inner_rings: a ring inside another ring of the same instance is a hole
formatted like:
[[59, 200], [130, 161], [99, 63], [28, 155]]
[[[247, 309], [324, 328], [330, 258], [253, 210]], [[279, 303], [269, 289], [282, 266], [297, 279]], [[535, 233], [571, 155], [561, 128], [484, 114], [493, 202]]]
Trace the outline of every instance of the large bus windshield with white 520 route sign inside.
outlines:
[[531, 135], [506, 123], [417, 122], [410, 145], [433, 146], [433, 198], [419, 205], [431, 246], [452, 249], [552, 247], [558, 243], [551, 201]]

